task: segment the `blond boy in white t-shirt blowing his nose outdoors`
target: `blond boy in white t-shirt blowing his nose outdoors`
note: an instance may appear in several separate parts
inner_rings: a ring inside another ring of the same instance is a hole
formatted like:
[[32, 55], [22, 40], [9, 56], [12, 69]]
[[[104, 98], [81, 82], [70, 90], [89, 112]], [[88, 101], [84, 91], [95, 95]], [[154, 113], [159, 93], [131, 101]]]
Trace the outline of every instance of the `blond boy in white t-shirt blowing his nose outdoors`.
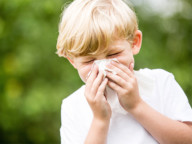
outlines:
[[[65, 9], [57, 53], [85, 86], [63, 100], [61, 143], [192, 144], [192, 110], [173, 75], [133, 71], [141, 41], [136, 15], [122, 0], [75, 0]], [[103, 59], [112, 59], [106, 76], [95, 64]], [[125, 114], [111, 108], [106, 87]]]

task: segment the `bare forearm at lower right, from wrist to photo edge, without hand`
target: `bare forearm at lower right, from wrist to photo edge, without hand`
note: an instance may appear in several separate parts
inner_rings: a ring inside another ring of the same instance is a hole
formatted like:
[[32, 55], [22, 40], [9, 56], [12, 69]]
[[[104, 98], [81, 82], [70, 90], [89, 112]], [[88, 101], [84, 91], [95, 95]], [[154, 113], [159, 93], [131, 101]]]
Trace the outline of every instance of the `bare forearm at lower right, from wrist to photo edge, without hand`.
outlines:
[[172, 120], [141, 101], [129, 112], [161, 144], [191, 144], [192, 123]]

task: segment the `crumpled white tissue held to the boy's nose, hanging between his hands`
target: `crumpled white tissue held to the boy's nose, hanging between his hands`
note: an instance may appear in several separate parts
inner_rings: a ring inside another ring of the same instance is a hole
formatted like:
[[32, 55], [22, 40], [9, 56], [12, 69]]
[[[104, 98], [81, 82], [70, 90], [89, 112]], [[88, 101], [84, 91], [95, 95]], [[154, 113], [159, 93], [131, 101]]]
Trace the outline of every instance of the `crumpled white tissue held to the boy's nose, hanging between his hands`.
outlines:
[[[103, 59], [103, 60], [94, 61], [94, 63], [98, 65], [99, 71], [103, 72], [104, 77], [106, 76], [106, 71], [110, 71], [113, 74], [117, 74], [115, 71], [108, 69], [106, 67], [106, 65], [111, 61], [118, 62], [117, 59]], [[115, 113], [127, 114], [127, 111], [125, 111], [120, 105], [117, 93], [114, 90], [112, 90], [110, 87], [107, 86], [105, 89], [105, 93], [106, 93], [107, 101], [112, 110], [112, 115], [115, 115]]]

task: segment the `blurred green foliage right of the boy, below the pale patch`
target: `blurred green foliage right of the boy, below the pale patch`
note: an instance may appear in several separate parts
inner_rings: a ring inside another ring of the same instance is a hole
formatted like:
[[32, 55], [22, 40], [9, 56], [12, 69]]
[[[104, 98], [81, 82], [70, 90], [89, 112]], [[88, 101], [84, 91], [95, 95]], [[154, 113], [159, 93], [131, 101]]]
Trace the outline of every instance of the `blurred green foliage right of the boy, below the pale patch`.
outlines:
[[135, 59], [137, 69], [163, 68], [173, 73], [192, 105], [192, 1], [181, 2], [182, 9], [169, 17], [152, 13], [145, 5], [135, 8], [143, 32]]

